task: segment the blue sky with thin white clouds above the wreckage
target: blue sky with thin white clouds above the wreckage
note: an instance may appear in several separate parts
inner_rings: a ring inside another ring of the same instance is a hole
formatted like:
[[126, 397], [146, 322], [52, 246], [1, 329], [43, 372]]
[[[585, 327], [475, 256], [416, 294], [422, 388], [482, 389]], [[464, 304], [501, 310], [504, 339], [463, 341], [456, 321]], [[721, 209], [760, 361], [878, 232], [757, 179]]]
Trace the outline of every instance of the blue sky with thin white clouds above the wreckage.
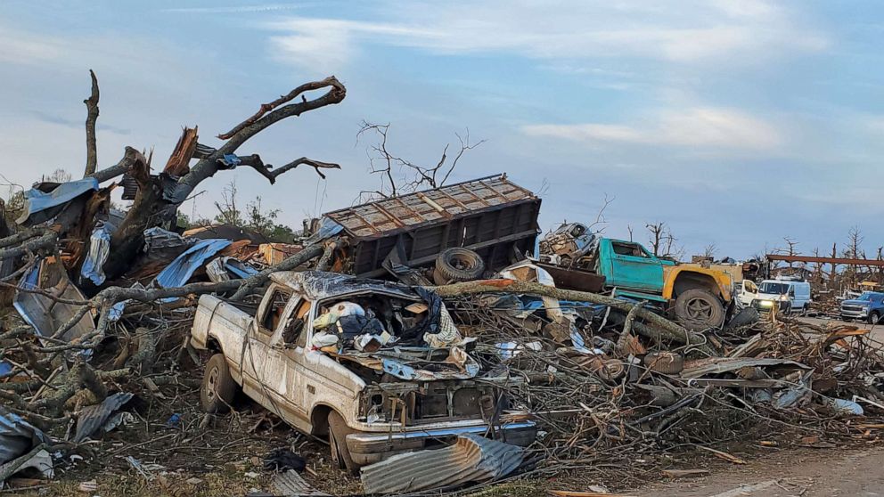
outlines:
[[28, 185], [85, 163], [87, 69], [101, 81], [99, 166], [123, 148], [165, 163], [181, 126], [212, 138], [307, 80], [334, 74], [339, 106], [241, 148], [282, 164], [339, 162], [275, 186], [219, 174], [184, 206], [211, 215], [224, 183], [297, 226], [350, 205], [368, 174], [360, 122], [432, 164], [454, 133], [486, 139], [454, 180], [506, 171], [538, 191], [541, 224], [605, 230], [666, 221], [687, 255], [831, 248], [851, 226], [884, 244], [884, 12], [869, 2], [31, 2], [0, 12], [3, 175]]

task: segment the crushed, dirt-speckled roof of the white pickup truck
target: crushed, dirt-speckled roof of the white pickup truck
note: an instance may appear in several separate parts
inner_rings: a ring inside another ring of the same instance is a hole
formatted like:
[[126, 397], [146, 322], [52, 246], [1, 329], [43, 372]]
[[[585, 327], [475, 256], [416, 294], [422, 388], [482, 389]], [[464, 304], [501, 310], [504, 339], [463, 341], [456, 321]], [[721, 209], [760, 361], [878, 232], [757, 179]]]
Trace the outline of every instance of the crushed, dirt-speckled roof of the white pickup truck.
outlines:
[[407, 298], [421, 298], [413, 289], [406, 285], [389, 281], [356, 278], [348, 274], [327, 273], [324, 271], [281, 271], [271, 274], [270, 279], [295, 290], [310, 300], [319, 300], [361, 291], [394, 293]]

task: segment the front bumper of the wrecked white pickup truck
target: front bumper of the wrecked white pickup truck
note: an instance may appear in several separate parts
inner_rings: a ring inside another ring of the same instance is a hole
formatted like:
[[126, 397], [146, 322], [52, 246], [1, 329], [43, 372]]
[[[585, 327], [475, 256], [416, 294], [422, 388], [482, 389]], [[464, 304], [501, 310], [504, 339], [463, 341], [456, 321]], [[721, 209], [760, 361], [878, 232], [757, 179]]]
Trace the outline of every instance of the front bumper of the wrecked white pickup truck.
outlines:
[[[487, 425], [457, 428], [436, 428], [397, 433], [358, 432], [347, 436], [347, 448], [353, 462], [360, 466], [384, 460], [401, 452], [422, 449], [432, 444], [451, 444], [457, 436], [486, 435]], [[507, 423], [497, 427], [495, 438], [507, 444], [526, 446], [534, 442], [537, 427], [533, 421]]]

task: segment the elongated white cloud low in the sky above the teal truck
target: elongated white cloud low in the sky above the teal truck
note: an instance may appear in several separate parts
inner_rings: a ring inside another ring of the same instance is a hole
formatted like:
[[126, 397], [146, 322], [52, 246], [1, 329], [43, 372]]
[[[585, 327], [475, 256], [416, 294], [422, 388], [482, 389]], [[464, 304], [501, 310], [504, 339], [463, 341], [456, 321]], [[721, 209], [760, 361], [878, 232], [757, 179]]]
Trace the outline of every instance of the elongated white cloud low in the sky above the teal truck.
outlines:
[[531, 136], [552, 136], [592, 144], [636, 143], [770, 151], [782, 133], [760, 118], [740, 110], [694, 107], [660, 112], [652, 122], [636, 126], [611, 124], [522, 126]]

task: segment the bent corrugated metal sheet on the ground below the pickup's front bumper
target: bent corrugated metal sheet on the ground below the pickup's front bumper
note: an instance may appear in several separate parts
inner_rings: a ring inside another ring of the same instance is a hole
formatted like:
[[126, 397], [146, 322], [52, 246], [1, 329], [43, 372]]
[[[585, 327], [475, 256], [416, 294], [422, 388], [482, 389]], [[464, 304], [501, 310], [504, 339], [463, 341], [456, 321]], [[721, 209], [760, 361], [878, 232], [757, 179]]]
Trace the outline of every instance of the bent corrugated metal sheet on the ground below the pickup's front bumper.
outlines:
[[444, 449], [405, 452], [362, 468], [364, 493], [407, 493], [505, 477], [525, 458], [521, 447], [477, 435]]

